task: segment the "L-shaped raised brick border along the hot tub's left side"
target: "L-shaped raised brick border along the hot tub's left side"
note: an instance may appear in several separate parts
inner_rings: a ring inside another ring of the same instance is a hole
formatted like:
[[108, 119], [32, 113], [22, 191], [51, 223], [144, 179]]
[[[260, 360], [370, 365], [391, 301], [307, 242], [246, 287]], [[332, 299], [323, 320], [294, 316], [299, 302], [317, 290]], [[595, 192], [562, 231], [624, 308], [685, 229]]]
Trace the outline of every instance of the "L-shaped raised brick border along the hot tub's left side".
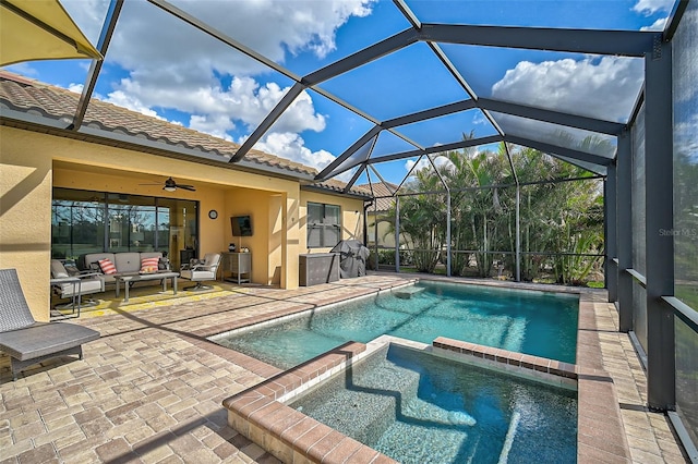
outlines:
[[317, 377], [329, 377], [366, 350], [348, 342], [222, 402], [228, 424], [285, 463], [396, 463], [390, 457], [278, 401]]

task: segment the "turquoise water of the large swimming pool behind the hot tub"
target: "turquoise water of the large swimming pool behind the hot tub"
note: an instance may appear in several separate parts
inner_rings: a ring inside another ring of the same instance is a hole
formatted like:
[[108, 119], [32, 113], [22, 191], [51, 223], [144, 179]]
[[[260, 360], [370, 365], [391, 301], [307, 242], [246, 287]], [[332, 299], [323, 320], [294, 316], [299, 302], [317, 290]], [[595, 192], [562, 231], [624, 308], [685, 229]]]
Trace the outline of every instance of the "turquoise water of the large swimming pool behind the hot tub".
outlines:
[[433, 282], [414, 290], [407, 300], [384, 292], [212, 340], [282, 369], [382, 334], [428, 344], [447, 337], [575, 363], [577, 295]]

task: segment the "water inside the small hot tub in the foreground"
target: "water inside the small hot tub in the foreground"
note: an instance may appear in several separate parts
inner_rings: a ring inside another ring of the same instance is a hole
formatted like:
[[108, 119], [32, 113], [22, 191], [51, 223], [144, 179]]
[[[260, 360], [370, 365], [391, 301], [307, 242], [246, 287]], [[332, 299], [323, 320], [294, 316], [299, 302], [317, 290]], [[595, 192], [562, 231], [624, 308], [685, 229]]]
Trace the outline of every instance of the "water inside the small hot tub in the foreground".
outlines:
[[288, 404], [401, 463], [574, 463], [576, 392], [390, 344]]

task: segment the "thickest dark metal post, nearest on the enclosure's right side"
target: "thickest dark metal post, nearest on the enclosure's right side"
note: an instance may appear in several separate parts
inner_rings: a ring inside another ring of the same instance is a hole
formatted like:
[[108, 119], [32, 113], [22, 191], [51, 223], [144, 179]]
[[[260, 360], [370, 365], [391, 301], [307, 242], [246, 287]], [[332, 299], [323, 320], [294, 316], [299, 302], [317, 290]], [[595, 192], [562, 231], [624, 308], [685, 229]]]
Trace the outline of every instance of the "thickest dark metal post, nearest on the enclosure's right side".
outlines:
[[[658, 35], [661, 37], [661, 35]], [[647, 396], [651, 410], [674, 410], [674, 188], [672, 45], [657, 39], [645, 57], [647, 255]]]

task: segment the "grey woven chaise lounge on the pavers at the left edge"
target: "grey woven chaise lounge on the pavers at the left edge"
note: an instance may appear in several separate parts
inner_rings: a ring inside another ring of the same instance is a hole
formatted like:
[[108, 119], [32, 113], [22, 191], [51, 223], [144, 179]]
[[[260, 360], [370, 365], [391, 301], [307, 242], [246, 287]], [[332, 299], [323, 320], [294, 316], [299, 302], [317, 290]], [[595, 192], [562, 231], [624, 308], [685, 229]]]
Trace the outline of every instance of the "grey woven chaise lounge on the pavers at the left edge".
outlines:
[[16, 269], [0, 269], [0, 351], [10, 355], [12, 379], [46, 359], [76, 354], [99, 332], [76, 323], [37, 322], [26, 303]]

